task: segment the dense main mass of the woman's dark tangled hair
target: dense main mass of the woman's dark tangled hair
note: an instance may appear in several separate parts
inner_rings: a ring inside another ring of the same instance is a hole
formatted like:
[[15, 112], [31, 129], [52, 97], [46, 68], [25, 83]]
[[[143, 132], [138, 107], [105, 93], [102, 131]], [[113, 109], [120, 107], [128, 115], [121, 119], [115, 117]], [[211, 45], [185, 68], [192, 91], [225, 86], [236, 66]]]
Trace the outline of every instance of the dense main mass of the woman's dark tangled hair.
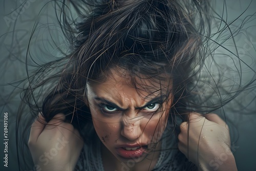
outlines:
[[[168, 93], [174, 94], [173, 111], [183, 114], [191, 112], [191, 108], [197, 109], [191, 101], [196, 94], [192, 93], [193, 81], [207, 55], [204, 45], [210, 36], [209, 2], [84, 3], [93, 10], [79, 16], [72, 23], [75, 28], [66, 27], [68, 20], [63, 22], [62, 29], [72, 40], [71, 52], [42, 66], [42, 70], [32, 76], [39, 78], [38, 73], [48, 76], [52, 72], [51, 66], [55, 70], [56, 65], [62, 65], [59, 74], [44, 77], [44, 82], [55, 80], [56, 86], [42, 98], [42, 107], [28, 101], [32, 98], [27, 98], [35, 95], [35, 88], [43, 86], [42, 81], [30, 81], [25, 91], [24, 97], [34, 111], [42, 111], [47, 121], [57, 113], [65, 113], [72, 117], [73, 123], [81, 111], [89, 112], [83, 102], [87, 82], [105, 81], [111, 75], [110, 69], [116, 67], [129, 72], [132, 78], [142, 78], [141, 75], [152, 81], [171, 78], [173, 90]], [[133, 83], [137, 87], [135, 79]], [[90, 115], [83, 114], [83, 117]]]

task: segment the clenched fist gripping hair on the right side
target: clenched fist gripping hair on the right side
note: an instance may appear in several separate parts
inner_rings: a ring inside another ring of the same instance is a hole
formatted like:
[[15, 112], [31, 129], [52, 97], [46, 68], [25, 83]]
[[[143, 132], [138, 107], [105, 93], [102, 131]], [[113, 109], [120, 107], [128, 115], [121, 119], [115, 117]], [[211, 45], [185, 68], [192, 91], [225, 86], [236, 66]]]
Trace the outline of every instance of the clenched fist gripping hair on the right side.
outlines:
[[199, 170], [237, 170], [227, 124], [216, 114], [189, 114], [180, 125], [180, 151]]

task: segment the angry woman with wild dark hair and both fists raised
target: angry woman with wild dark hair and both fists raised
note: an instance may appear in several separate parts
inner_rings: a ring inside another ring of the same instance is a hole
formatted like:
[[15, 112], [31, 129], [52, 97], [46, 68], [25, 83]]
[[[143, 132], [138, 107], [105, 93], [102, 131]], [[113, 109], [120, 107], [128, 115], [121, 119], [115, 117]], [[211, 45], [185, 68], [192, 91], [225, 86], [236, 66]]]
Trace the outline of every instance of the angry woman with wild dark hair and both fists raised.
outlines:
[[35, 169], [237, 169], [226, 122], [211, 114], [232, 97], [200, 97], [208, 2], [70, 4], [88, 7], [75, 30], [61, 8], [71, 50], [30, 76], [23, 96], [39, 112], [28, 141]]

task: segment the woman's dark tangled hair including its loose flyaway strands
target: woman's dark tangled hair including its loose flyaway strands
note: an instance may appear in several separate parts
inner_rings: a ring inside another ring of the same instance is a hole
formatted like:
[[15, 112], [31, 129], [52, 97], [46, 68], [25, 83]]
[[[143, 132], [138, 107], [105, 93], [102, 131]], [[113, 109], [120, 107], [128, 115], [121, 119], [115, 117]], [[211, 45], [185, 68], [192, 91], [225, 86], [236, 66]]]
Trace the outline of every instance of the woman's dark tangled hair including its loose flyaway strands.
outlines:
[[[113, 74], [111, 70], [131, 78], [138, 91], [138, 87], [143, 87], [140, 84], [143, 79], [172, 80], [172, 90], [167, 91], [166, 97], [174, 96], [169, 115], [174, 123], [177, 117], [185, 120], [191, 111], [206, 114], [222, 108], [240, 92], [222, 99], [212, 88], [212, 94], [202, 98], [205, 89], [217, 87], [220, 81], [207, 75], [215, 82], [205, 88], [208, 82], [202, 74], [206, 58], [211, 58], [215, 50], [210, 42], [216, 43], [212, 39], [215, 35], [211, 34], [214, 10], [210, 1], [63, 0], [51, 3], [69, 49], [60, 50], [61, 57], [40, 65], [26, 79], [17, 116], [17, 138], [29, 128], [38, 111], [46, 121], [58, 113], [65, 114], [66, 120], [86, 137], [82, 130], [92, 127], [90, 110], [84, 103], [86, 85], [90, 81], [106, 81]], [[78, 16], [76, 19], [71, 15], [73, 12]], [[28, 48], [27, 60], [29, 52]], [[214, 97], [217, 102], [212, 100]], [[27, 106], [31, 115], [24, 113]], [[31, 122], [20, 125], [25, 120]], [[27, 136], [22, 138], [27, 140]]]

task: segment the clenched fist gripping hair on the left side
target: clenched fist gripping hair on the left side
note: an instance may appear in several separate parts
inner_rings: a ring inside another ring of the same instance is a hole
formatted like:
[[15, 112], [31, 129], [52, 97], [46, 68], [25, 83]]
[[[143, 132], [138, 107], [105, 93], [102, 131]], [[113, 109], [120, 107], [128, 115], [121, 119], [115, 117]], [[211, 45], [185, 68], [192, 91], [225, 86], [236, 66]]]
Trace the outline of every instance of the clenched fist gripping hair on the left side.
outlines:
[[48, 123], [39, 117], [31, 126], [29, 149], [37, 170], [74, 170], [83, 140], [73, 125], [57, 114]]

